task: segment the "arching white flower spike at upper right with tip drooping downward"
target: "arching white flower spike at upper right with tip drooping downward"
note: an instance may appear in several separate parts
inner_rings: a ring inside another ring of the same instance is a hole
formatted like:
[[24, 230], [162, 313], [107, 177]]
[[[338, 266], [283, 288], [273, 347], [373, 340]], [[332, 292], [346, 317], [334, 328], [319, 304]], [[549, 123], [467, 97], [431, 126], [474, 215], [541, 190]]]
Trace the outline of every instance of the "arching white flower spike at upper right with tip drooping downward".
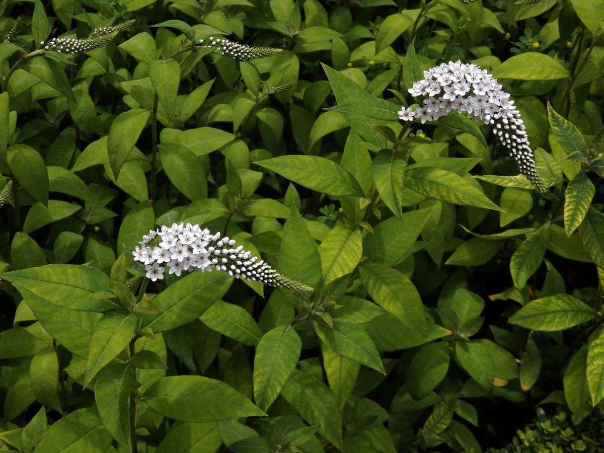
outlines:
[[547, 191], [541, 176], [535, 167], [533, 151], [528, 143], [527, 133], [514, 101], [503, 91], [497, 79], [487, 73], [486, 69], [472, 63], [442, 63], [440, 66], [424, 71], [423, 80], [413, 82], [408, 91], [413, 97], [426, 97], [423, 106], [413, 110], [411, 107], [398, 112], [404, 121], [420, 118], [426, 121], [438, 120], [451, 110], [484, 124], [493, 126], [493, 133], [510, 150], [510, 156], [516, 159], [520, 172], [541, 192]]

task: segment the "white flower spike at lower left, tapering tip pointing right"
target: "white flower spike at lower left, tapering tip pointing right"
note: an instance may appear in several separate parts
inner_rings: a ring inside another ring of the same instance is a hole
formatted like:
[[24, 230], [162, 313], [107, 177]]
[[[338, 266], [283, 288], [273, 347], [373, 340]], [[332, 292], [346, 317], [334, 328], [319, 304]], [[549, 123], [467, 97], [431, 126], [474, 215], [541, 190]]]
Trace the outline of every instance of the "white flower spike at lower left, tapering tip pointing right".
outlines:
[[220, 239], [220, 233], [212, 234], [207, 228], [191, 223], [173, 223], [162, 226], [161, 230], [149, 231], [143, 236], [132, 252], [134, 260], [145, 265], [147, 278], [153, 281], [163, 280], [165, 263], [169, 274], [181, 276], [183, 271], [226, 271], [236, 278], [248, 281], [261, 281], [277, 288], [294, 291], [313, 291], [300, 281], [292, 280], [272, 269], [271, 266], [251, 253], [243, 246], [235, 246], [235, 240], [228, 236]]

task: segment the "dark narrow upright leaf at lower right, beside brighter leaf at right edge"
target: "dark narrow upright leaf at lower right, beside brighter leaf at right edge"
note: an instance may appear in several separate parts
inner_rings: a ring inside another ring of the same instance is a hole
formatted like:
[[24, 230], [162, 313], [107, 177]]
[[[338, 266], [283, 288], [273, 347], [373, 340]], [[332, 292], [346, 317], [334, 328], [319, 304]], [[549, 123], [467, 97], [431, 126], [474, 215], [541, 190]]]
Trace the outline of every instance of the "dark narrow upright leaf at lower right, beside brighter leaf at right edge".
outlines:
[[587, 348], [581, 347], [568, 362], [564, 371], [564, 397], [568, 408], [573, 413], [573, 423], [578, 425], [586, 416], [591, 414], [590, 388], [587, 383]]

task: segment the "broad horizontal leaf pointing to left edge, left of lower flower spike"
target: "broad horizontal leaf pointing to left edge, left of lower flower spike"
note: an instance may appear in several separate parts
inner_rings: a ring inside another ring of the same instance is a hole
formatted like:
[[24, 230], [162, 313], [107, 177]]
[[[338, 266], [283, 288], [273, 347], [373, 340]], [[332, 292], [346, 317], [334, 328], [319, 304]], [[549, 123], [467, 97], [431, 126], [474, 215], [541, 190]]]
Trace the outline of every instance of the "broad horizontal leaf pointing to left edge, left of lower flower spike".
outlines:
[[107, 275], [90, 266], [46, 265], [5, 272], [0, 278], [60, 307], [91, 312], [115, 309], [106, 299], [91, 298], [97, 291], [111, 291], [111, 285]]

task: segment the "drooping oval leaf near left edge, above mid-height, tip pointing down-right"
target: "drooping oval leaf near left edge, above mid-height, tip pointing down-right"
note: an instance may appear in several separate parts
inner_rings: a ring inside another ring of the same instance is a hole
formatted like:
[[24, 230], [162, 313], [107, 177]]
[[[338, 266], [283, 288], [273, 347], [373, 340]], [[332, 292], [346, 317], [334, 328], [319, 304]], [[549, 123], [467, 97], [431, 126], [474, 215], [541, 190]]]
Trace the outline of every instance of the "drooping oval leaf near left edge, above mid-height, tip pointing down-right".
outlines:
[[7, 149], [8, 166], [14, 178], [37, 201], [48, 203], [48, 172], [42, 156], [31, 146], [14, 144]]

